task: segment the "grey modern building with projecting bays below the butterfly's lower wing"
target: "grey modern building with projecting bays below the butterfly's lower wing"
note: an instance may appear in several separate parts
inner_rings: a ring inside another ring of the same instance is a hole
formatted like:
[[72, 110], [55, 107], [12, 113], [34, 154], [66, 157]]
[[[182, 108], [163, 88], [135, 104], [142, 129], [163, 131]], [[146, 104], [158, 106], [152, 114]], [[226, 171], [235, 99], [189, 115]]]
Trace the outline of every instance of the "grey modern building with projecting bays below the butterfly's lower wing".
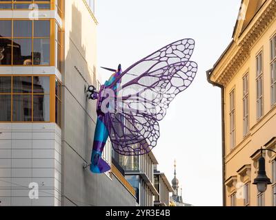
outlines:
[[126, 179], [135, 188], [137, 205], [169, 206], [172, 186], [166, 175], [157, 171], [157, 159], [150, 152], [141, 156], [123, 156], [115, 153]]

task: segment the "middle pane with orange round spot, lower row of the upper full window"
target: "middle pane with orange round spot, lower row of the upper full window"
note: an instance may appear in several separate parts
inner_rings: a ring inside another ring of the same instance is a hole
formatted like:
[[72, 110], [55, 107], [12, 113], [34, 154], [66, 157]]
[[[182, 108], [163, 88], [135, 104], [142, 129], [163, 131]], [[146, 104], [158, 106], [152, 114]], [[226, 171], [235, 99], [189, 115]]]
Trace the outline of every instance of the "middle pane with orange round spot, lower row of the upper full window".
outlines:
[[13, 64], [32, 65], [32, 39], [14, 39]]

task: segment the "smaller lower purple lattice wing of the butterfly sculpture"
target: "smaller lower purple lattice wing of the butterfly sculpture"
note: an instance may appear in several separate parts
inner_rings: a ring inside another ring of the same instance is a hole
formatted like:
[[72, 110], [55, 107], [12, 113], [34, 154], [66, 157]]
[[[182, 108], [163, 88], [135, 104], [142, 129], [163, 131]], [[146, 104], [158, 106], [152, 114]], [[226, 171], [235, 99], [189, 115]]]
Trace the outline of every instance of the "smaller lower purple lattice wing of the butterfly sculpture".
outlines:
[[143, 155], [156, 146], [159, 124], [139, 112], [110, 113], [109, 129], [112, 146], [121, 155]]

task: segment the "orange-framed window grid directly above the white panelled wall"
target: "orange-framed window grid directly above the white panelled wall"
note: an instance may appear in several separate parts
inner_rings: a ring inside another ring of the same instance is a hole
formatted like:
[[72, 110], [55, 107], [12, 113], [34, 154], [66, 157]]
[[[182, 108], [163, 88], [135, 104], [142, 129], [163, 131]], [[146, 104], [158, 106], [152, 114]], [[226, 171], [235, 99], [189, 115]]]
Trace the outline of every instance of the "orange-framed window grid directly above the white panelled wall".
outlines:
[[1, 121], [49, 122], [50, 76], [0, 76]]

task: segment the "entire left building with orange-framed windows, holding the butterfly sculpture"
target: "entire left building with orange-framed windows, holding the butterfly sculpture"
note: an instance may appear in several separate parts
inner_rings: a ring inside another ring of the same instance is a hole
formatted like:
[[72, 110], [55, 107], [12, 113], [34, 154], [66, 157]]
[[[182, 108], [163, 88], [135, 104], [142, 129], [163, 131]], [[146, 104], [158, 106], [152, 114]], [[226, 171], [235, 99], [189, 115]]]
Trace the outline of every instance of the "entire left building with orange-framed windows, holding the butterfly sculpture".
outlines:
[[85, 91], [98, 85], [96, 35], [95, 1], [0, 1], [1, 206], [136, 205], [110, 143], [110, 173], [83, 169], [97, 117]]

